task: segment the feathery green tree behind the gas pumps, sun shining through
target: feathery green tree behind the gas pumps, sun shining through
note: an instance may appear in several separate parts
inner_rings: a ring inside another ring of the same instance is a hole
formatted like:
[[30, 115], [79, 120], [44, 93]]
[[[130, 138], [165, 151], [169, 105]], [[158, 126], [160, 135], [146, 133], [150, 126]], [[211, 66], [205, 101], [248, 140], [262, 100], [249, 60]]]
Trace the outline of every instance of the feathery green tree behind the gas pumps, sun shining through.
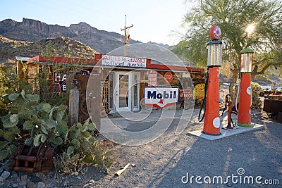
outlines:
[[[272, 67], [282, 65], [282, 3], [270, 0], [204, 0], [197, 1], [185, 15], [187, 32], [173, 52], [192, 61], [193, 65], [207, 66], [207, 42], [212, 25], [221, 28], [223, 55], [221, 73], [231, 77], [231, 96], [238, 79], [240, 50], [255, 50], [252, 77], [263, 75]], [[254, 30], [248, 31], [252, 25]], [[235, 99], [233, 99], [235, 101]]]

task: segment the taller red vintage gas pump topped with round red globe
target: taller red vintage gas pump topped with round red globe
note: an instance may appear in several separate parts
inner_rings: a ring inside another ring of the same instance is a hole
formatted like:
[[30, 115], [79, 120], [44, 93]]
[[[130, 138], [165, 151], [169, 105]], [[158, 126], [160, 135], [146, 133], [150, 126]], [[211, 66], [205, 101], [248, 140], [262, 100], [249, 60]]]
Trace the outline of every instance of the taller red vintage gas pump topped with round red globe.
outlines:
[[[204, 87], [204, 101], [199, 113], [199, 121], [204, 118], [204, 134], [218, 135], [220, 134], [220, 118], [219, 118], [219, 67], [221, 67], [222, 42], [221, 29], [217, 25], [213, 25], [209, 30], [212, 38], [207, 43], [207, 75]], [[200, 119], [200, 114], [204, 106], [204, 115]]]

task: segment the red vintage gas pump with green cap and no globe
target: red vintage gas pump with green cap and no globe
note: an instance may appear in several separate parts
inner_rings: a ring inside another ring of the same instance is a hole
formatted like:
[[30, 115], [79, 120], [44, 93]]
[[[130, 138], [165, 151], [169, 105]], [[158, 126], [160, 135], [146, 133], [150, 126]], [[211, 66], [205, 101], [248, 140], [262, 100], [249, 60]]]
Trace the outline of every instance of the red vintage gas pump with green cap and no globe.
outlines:
[[240, 127], [253, 127], [251, 124], [251, 106], [252, 106], [252, 49], [243, 49], [240, 51], [240, 98], [238, 108], [238, 122]]

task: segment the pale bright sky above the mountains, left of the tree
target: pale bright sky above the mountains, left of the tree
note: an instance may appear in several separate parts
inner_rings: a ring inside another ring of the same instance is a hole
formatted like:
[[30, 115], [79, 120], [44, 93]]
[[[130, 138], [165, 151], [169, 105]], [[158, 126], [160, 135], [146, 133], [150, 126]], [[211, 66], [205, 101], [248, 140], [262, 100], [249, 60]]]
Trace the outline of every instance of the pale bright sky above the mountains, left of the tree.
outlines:
[[[129, 34], [140, 42], [175, 45], [185, 13], [192, 7], [189, 0], [1, 0], [0, 20], [23, 18], [40, 20], [51, 25], [69, 26], [85, 22], [98, 30], [121, 32], [133, 24]], [[177, 31], [177, 32], [173, 32]]]

